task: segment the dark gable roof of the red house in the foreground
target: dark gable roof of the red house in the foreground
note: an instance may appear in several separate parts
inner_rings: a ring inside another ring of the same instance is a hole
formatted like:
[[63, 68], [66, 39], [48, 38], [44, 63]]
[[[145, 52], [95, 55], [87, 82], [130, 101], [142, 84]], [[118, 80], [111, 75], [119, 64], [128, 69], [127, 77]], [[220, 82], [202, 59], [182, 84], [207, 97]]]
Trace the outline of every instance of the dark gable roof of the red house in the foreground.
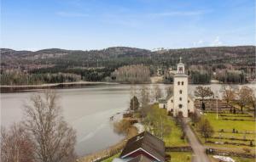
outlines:
[[143, 148], [148, 154], [160, 159], [160, 161], [165, 161], [165, 142], [148, 133], [148, 131], [144, 131], [129, 139], [120, 157], [123, 158], [125, 155], [131, 154], [131, 152], [139, 148]]

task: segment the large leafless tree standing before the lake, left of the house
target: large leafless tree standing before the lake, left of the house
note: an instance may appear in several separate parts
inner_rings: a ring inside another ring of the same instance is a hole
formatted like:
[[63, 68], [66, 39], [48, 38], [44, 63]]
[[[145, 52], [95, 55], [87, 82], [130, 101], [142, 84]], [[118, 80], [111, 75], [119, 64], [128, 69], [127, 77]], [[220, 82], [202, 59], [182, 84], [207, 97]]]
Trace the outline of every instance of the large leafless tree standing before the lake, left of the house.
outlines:
[[37, 162], [74, 161], [76, 133], [67, 126], [57, 103], [58, 96], [52, 90], [34, 94], [25, 105], [24, 126], [35, 143]]

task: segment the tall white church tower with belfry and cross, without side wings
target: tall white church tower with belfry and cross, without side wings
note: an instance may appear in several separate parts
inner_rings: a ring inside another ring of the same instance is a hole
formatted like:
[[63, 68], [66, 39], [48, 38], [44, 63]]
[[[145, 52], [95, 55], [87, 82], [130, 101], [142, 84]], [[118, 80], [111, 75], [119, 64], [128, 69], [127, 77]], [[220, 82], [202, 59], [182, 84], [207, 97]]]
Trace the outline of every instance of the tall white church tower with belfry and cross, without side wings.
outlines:
[[188, 75], [185, 74], [185, 66], [182, 63], [182, 58], [177, 64], [177, 74], [174, 75], [173, 81], [173, 116], [183, 115], [189, 116], [189, 98], [188, 98]]

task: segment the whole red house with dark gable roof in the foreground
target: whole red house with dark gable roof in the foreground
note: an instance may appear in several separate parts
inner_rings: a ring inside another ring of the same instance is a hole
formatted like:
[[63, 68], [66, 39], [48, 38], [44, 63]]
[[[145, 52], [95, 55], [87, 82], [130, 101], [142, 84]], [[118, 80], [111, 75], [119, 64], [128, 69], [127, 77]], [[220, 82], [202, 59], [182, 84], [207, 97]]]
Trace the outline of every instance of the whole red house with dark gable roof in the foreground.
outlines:
[[148, 131], [129, 139], [125, 148], [114, 162], [164, 162], [165, 142]]

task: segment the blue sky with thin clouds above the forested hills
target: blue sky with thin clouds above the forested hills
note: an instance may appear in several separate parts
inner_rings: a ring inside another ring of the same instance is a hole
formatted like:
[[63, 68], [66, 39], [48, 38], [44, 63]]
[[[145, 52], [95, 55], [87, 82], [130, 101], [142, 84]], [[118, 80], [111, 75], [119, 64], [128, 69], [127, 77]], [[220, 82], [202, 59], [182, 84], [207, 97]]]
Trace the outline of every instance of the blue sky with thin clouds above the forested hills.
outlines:
[[1, 0], [1, 47], [255, 45], [255, 0]]

